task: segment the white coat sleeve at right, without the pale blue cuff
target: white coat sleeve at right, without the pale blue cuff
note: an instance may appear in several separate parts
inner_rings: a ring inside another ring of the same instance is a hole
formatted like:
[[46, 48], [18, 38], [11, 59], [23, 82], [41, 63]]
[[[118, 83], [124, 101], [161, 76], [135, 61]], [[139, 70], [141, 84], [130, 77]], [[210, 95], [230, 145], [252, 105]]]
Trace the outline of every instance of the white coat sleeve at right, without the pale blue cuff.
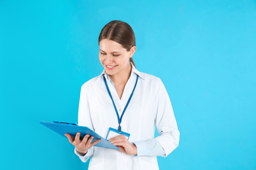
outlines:
[[165, 150], [165, 156], [167, 156], [179, 145], [180, 133], [169, 95], [160, 78], [159, 81], [158, 101], [156, 101], [158, 103], [156, 127], [160, 136], [155, 139], [161, 144], [163, 150]]

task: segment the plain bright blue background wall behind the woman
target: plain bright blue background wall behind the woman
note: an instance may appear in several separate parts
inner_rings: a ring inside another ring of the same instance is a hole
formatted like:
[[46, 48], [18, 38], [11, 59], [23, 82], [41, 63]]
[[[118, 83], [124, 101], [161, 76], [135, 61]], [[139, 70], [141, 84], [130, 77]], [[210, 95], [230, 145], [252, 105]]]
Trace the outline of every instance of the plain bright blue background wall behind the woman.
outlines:
[[160, 169], [256, 169], [256, 1], [0, 1], [0, 169], [87, 169], [40, 120], [77, 122], [98, 35], [133, 27], [181, 132]]

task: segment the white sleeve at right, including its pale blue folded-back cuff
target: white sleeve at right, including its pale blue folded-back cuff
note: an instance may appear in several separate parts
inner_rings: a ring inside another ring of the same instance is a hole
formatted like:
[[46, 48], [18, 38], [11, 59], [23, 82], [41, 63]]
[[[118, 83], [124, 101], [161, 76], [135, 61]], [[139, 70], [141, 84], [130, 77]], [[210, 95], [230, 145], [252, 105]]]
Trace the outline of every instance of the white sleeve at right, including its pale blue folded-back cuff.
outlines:
[[159, 137], [148, 139], [146, 141], [135, 141], [137, 146], [137, 156], [163, 156], [166, 157], [179, 145], [179, 130], [169, 95], [160, 78], [156, 88], [156, 127]]

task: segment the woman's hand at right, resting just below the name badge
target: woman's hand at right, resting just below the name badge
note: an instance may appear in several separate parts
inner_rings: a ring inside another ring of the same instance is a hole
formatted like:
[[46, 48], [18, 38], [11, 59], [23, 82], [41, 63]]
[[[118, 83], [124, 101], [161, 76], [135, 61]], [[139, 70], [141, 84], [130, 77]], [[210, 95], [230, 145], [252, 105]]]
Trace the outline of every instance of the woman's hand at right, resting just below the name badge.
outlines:
[[124, 152], [129, 155], [137, 155], [137, 146], [129, 143], [124, 135], [118, 135], [108, 141], [117, 146], [117, 148], [120, 149], [120, 152]]

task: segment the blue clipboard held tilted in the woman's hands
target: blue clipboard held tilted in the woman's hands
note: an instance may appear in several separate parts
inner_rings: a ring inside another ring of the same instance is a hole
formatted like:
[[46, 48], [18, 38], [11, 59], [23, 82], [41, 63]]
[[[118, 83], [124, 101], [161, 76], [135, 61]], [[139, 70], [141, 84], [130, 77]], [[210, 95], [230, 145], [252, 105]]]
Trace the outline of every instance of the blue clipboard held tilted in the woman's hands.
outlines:
[[50, 129], [52, 129], [53, 131], [62, 135], [65, 138], [67, 138], [65, 136], [66, 133], [69, 133], [70, 135], [72, 135], [72, 137], [75, 137], [76, 133], [80, 132], [81, 133], [80, 139], [83, 139], [83, 137], [85, 135], [93, 136], [94, 139], [92, 142], [96, 141], [97, 139], [100, 139], [100, 142], [95, 144], [95, 146], [119, 150], [119, 148], [117, 148], [117, 146], [115, 146], [114, 144], [110, 143], [109, 141], [107, 141], [106, 139], [104, 139], [103, 137], [98, 135], [98, 133], [96, 133], [95, 131], [89, 129], [89, 127], [77, 126], [77, 124], [74, 124], [74, 123], [56, 122], [56, 121], [55, 122], [40, 121], [39, 123], [43, 124], [46, 127], [49, 127]]

